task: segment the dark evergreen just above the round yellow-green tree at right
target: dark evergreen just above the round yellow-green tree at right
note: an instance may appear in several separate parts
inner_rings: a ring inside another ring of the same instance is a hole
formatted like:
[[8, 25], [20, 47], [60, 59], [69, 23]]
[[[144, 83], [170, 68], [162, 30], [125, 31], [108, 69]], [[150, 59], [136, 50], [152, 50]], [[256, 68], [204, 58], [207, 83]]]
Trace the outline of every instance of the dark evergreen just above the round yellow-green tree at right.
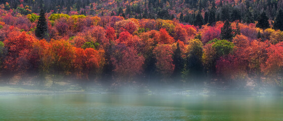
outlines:
[[221, 33], [220, 33], [221, 39], [232, 40], [233, 38], [232, 32], [233, 30], [231, 24], [229, 23], [228, 20], [226, 20], [224, 26], [221, 28]]

